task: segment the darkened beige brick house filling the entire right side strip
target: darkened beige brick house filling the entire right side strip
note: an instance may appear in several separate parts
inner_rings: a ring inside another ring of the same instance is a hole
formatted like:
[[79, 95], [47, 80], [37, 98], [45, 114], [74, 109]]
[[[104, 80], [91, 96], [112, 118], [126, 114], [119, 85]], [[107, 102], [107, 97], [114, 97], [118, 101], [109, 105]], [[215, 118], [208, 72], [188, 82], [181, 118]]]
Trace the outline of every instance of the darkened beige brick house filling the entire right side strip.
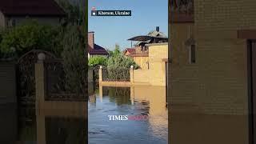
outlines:
[[256, 1], [170, 1], [169, 143], [256, 143]]

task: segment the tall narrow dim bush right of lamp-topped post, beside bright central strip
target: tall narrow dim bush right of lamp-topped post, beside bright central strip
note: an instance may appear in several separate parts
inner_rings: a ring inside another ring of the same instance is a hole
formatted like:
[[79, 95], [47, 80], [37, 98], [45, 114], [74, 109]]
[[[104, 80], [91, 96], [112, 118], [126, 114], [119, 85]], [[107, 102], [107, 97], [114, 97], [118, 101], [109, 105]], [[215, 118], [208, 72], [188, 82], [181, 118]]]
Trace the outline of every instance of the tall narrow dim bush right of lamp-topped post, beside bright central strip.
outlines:
[[86, 88], [87, 54], [84, 36], [78, 26], [69, 26], [62, 42], [66, 90], [81, 94]]

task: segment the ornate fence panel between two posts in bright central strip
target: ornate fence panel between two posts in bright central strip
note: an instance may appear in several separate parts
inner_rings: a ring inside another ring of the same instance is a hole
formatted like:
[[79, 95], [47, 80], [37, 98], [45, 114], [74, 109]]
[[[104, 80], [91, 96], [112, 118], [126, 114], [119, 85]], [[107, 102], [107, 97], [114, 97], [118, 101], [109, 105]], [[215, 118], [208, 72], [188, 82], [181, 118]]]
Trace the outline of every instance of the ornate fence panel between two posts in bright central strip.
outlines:
[[130, 69], [120, 67], [117, 69], [102, 67], [102, 81], [130, 81]]

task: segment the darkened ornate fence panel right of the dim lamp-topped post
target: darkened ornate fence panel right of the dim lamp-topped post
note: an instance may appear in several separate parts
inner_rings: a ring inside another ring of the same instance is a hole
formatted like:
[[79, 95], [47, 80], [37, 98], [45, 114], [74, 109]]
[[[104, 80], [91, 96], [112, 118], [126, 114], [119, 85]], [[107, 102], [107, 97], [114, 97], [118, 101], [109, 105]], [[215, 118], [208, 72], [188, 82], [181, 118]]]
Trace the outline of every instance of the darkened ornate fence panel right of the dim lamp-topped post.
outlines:
[[[86, 86], [84, 90], [72, 90], [66, 79], [63, 62], [55, 59], [44, 62], [46, 101], [86, 101]], [[80, 85], [80, 83], [77, 83]]]

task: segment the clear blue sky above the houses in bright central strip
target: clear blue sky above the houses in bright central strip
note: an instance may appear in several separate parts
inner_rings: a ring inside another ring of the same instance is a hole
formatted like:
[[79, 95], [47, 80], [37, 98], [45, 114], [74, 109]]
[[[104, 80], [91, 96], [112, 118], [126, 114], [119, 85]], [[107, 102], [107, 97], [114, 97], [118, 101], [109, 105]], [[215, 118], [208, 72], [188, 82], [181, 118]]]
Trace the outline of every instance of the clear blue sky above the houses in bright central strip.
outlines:
[[[117, 43], [122, 50], [130, 47], [127, 39], [149, 33], [160, 26], [168, 32], [168, 0], [88, 0], [89, 31], [95, 43], [113, 50]], [[91, 17], [90, 10], [132, 10], [131, 17]]]

